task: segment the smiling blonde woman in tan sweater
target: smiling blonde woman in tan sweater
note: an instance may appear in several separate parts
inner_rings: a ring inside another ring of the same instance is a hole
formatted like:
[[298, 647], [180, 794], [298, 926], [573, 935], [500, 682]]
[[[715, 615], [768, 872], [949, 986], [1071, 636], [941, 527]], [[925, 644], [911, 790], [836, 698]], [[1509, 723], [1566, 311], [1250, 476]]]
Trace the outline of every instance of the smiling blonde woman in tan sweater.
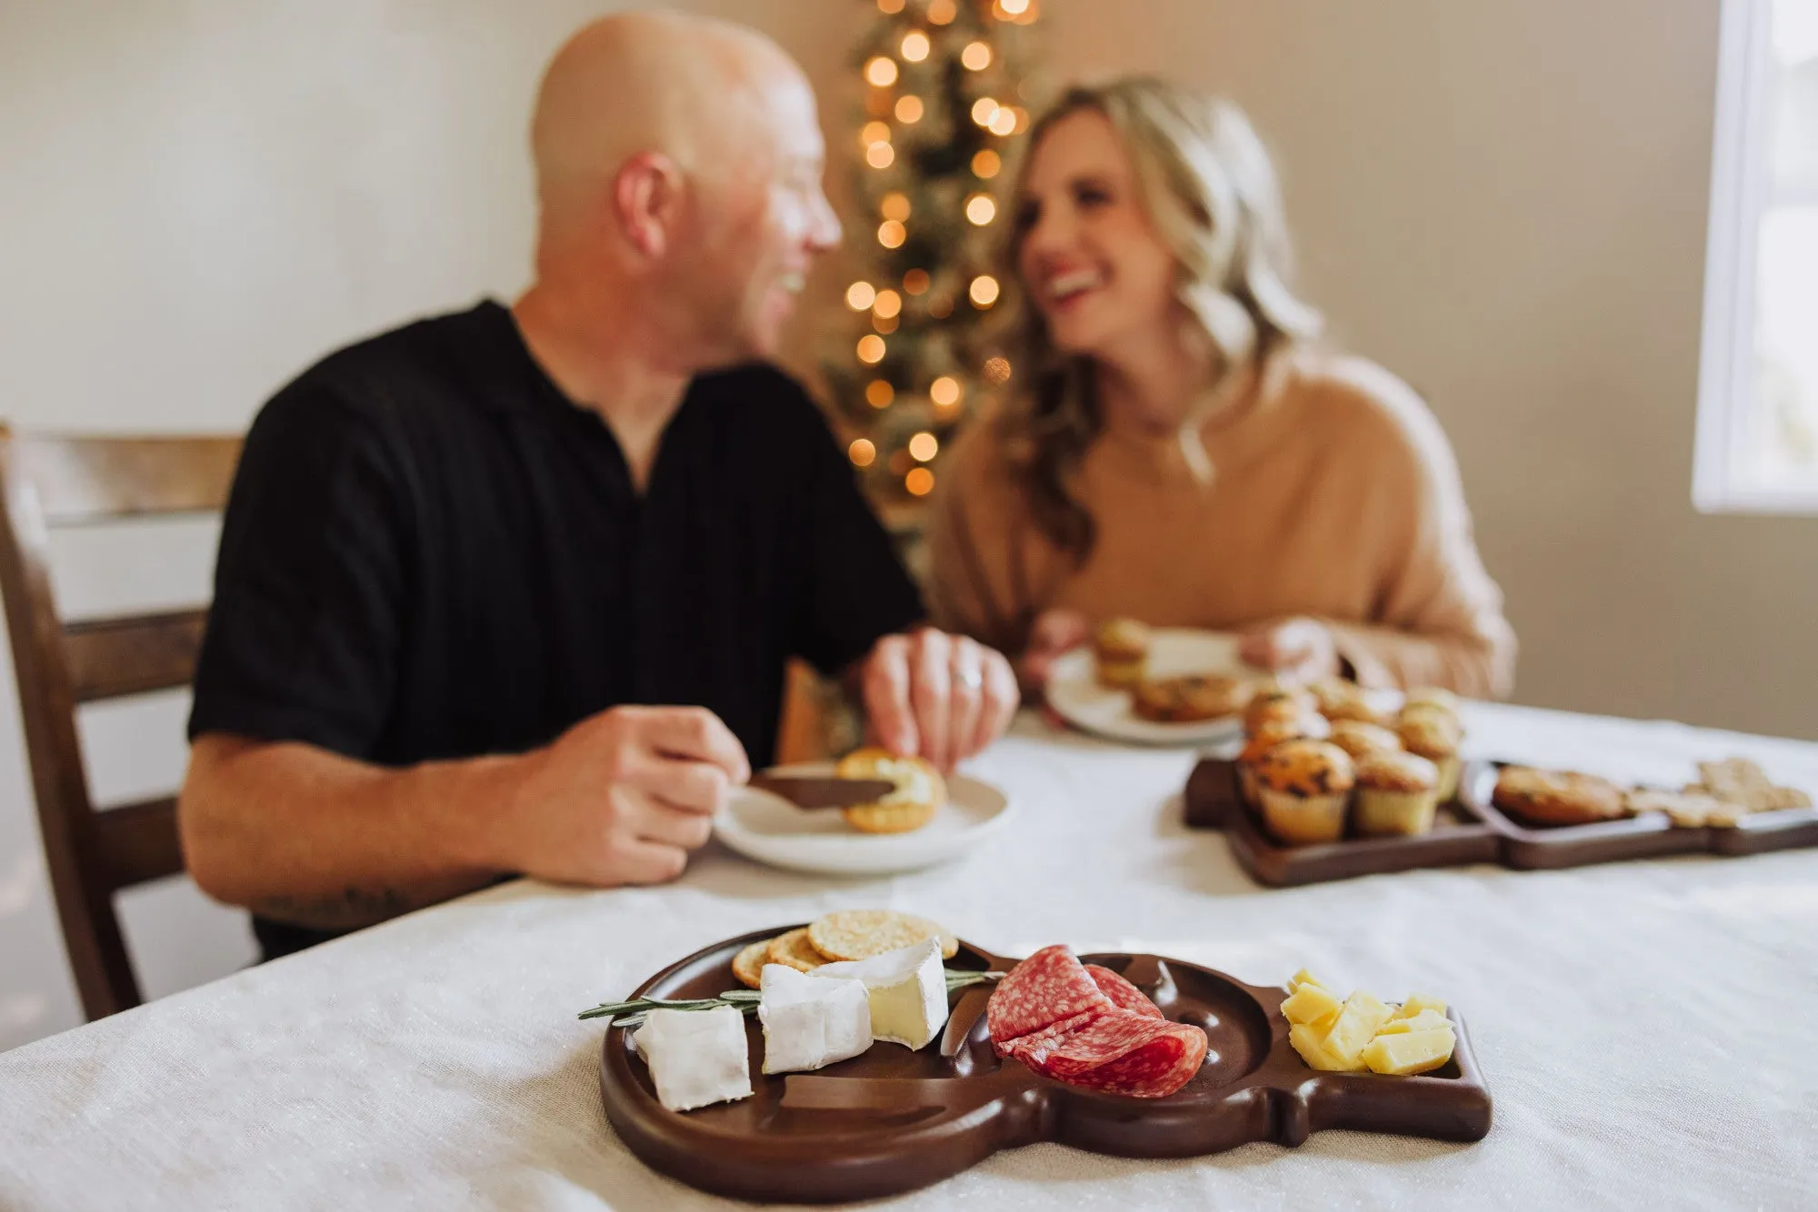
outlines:
[[1294, 676], [1507, 694], [1514, 632], [1445, 434], [1396, 376], [1314, 342], [1242, 111], [1076, 87], [1011, 205], [1016, 391], [944, 476], [942, 627], [1020, 652], [1031, 685], [1133, 616], [1240, 631]]

